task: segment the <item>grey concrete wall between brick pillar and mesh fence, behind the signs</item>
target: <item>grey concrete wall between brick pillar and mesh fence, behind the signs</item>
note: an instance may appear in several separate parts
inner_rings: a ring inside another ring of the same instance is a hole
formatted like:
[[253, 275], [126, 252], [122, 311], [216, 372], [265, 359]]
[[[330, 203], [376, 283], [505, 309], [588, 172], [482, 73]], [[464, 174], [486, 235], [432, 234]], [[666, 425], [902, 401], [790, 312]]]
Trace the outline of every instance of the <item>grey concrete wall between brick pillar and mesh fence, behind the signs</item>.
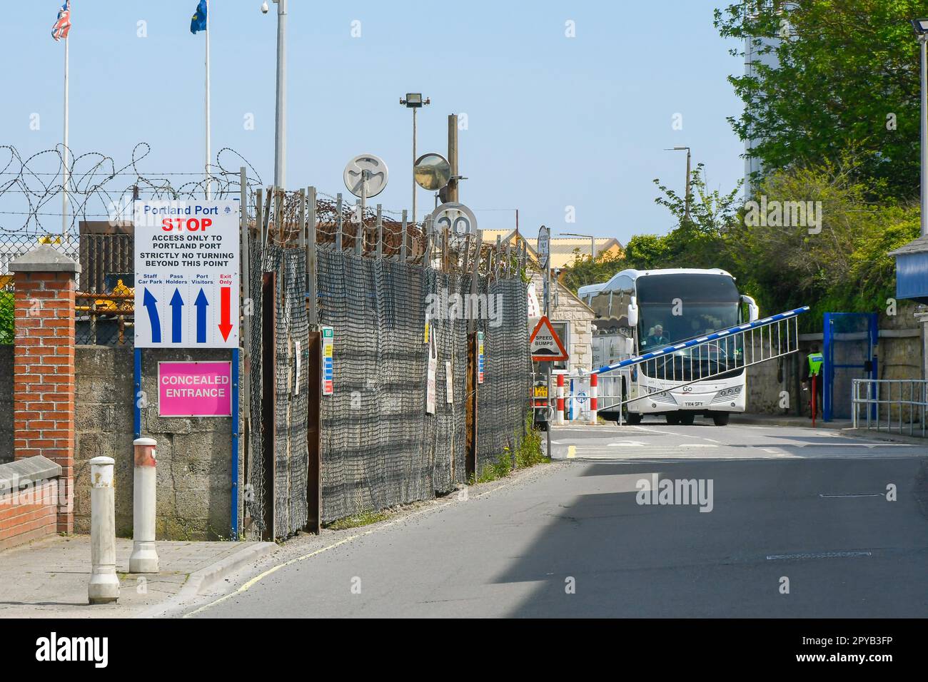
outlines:
[[[116, 459], [116, 530], [132, 534], [133, 349], [78, 346], [74, 527], [89, 531], [91, 457]], [[142, 355], [142, 435], [158, 441], [159, 539], [217, 539], [230, 534], [231, 418], [161, 418], [158, 361], [229, 360], [227, 351], [146, 350]], [[239, 472], [241, 455], [239, 453]]]

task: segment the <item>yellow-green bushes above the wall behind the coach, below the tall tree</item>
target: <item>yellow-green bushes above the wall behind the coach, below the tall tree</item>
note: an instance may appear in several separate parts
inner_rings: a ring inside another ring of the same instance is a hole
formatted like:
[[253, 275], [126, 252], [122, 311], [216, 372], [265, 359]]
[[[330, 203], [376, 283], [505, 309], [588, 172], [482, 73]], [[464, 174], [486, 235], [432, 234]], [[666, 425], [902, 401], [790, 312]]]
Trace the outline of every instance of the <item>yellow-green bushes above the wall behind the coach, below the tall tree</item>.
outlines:
[[764, 314], [811, 306], [811, 314], [800, 317], [804, 330], [820, 329], [825, 312], [878, 311], [895, 296], [896, 262], [887, 253], [919, 236], [919, 207], [874, 201], [884, 183], [859, 181], [858, 174], [859, 164], [847, 154], [838, 162], [769, 174], [759, 185], [758, 196], [768, 204], [820, 201], [817, 234], [809, 233], [818, 227], [808, 223], [753, 225], [745, 221], [745, 207], [734, 212], [730, 194], [713, 199], [720, 211], [694, 208], [687, 221], [678, 198], [658, 183], [664, 197], [657, 201], [679, 226], [664, 237], [631, 238], [622, 262], [594, 281], [623, 267], [721, 267], [737, 277], [739, 289], [754, 296]]

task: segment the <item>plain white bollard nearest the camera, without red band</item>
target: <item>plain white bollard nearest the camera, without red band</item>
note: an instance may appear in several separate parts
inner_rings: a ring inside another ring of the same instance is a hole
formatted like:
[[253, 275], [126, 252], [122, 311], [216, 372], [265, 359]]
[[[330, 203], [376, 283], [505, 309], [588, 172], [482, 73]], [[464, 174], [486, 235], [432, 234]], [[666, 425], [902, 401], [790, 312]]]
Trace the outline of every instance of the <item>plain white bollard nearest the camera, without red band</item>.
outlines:
[[90, 460], [90, 584], [91, 604], [109, 604], [119, 598], [116, 577], [116, 506], [113, 498], [112, 457]]

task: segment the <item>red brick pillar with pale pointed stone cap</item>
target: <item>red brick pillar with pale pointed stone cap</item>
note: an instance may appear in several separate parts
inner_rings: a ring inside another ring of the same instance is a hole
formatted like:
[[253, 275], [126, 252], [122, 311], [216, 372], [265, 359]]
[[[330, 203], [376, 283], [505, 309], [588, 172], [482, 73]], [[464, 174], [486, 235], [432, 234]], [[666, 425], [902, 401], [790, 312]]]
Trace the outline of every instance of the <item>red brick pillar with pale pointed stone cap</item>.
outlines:
[[16, 288], [13, 457], [43, 455], [61, 467], [67, 504], [58, 533], [73, 530], [74, 291], [81, 266], [43, 244], [9, 264]]

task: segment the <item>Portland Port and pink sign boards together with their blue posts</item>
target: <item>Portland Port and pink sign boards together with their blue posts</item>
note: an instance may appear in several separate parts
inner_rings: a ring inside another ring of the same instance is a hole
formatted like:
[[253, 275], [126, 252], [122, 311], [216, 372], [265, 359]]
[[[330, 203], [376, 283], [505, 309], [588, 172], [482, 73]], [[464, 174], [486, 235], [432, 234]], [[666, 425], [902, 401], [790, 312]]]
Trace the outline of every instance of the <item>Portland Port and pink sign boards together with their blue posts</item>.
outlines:
[[231, 528], [238, 538], [240, 200], [142, 200], [135, 225], [135, 438], [142, 349], [223, 348], [232, 362], [159, 363], [162, 417], [232, 421]]

